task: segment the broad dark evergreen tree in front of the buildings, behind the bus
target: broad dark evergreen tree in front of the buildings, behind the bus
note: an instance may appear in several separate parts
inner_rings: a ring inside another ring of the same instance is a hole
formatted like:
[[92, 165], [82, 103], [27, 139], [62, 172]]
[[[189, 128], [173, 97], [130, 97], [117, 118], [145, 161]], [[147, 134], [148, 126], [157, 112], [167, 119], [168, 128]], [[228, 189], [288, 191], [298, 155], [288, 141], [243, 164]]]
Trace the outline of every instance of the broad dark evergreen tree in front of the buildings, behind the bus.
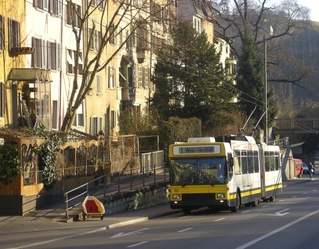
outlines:
[[206, 133], [231, 123], [227, 112], [233, 108], [235, 94], [214, 44], [188, 22], [177, 24], [172, 39], [172, 45], [158, 53], [153, 79], [158, 91], [151, 103], [165, 120], [200, 119]]

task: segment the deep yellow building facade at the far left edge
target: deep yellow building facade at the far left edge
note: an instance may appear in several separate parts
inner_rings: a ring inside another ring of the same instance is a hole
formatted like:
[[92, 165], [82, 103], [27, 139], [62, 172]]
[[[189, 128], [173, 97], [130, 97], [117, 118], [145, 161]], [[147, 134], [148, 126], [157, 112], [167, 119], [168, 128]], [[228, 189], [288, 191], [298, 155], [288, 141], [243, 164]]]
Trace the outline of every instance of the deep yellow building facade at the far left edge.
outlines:
[[[18, 97], [22, 85], [14, 80], [11, 69], [24, 68], [25, 53], [30, 50], [24, 43], [24, 0], [0, 3], [0, 126], [17, 127]], [[11, 80], [12, 79], [12, 80]], [[12, 116], [14, 118], [12, 118]]]

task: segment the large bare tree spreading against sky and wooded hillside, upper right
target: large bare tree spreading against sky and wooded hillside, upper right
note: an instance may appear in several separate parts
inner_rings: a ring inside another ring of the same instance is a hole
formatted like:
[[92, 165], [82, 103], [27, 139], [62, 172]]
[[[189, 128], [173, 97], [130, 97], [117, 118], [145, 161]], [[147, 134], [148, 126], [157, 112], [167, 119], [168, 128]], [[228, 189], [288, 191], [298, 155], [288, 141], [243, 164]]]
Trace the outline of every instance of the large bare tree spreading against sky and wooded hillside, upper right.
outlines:
[[[284, 44], [285, 39], [298, 37], [299, 30], [312, 28], [309, 20], [310, 9], [295, 0], [272, 2], [232, 0], [229, 12], [222, 11], [221, 6], [213, 2], [211, 8], [217, 17], [215, 26], [237, 54], [241, 54], [241, 47], [245, 45], [245, 33], [249, 32], [256, 50], [259, 51], [262, 51], [261, 45], [265, 39], [268, 45], [267, 70], [270, 71], [268, 82], [292, 83], [309, 89], [309, 85], [303, 85], [302, 80], [314, 77], [314, 68], [307, 61], [301, 62], [293, 56], [289, 57], [289, 46]], [[280, 69], [279, 65], [285, 65], [284, 70]]]

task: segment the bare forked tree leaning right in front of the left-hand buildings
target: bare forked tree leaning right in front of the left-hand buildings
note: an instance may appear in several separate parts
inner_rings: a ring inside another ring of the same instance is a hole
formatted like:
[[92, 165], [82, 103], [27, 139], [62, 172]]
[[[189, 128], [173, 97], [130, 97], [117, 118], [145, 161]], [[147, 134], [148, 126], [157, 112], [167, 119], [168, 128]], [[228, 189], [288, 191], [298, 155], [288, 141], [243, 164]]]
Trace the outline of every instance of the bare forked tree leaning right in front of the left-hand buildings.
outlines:
[[[96, 73], [104, 70], [107, 65], [117, 56], [121, 49], [126, 46], [127, 43], [131, 42], [131, 39], [136, 34], [136, 30], [139, 27], [151, 23], [155, 15], [159, 15], [159, 12], [164, 6], [170, 6], [169, 0], [163, 0], [160, 8], [153, 8], [150, 6], [149, 1], [145, 0], [88, 0], [83, 3], [83, 13], [77, 9], [77, 5], [70, 0], [68, 5], [68, 13], [71, 18], [72, 32], [75, 35], [76, 40], [76, 52], [74, 61], [74, 78], [72, 82], [72, 89], [68, 96], [68, 107], [66, 115], [63, 119], [61, 130], [69, 131], [72, 127], [76, 111], [82, 104], [87, 93], [92, 90], [92, 83]], [[92, 7], [94, 6], [94, 7]], [[99, 19], [95, 11], [99, 8], [102, 10]], [[78, 23], [77, 23], [78, 21]], [[92, 24], [92, 29], [88, 33], [88, 23]], [[76, 25], [77, 23], [77, 25]], [[107, 23], [103, 25], [102, 23]], [[122, 29], [128, 30], [127, 35], [120, 43], [116, 44], [116, 49], [108, 50], [108, 44], [114, 37], [119, 36], [117, 32], [121, 26]], [[99, 47], [95, 54], [92, 56], [90, 49], [86, 49], [83, 60], [83, 72], [82, 79], [79, 81], [78, 68], [79, 68], [79, 53], [81, 50], [81, 43], [83, 42], [83, 36], [88, 37], [85, 41], [85, 46], [89, 48], [96, 37], [94, 36], [95, 31], [100, 36]], [[148, 41], [150, 42], [150, 41]], [[88, 75], [90, 75], [88, 79]]]

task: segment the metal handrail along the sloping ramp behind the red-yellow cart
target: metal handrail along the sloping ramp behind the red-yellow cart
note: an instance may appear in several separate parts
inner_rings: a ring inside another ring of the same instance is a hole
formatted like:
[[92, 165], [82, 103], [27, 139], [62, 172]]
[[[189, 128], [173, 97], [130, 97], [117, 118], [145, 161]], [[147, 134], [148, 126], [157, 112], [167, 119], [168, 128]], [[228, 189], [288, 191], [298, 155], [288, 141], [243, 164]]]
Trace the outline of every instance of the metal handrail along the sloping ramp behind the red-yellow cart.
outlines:
[[[154, 169], [153, 169], [154, 183], [156, 183], [156, 172], [159, 171], [159, 170], [163, 171], [163, 173], [164, 173], [164, 181], [166, 181], [165, 163], [161, 163], [160, 165], [161, 165], [160, 167], [158, 167], [158, 164], [152, 165], [154, 167]], [[128, 172], [128, 171], [130, 171], [129, 175], [125, 175], [125, 172]], [[134, 174], [133, 173], [134, 171], [138, 171], [139, 173]], [[123, 170], [123, 171], [118, 171], [118, 172], [113, 172], [113, 173], [108, 173], [108, 174], [102, 175], [102, 176], [97, 177], [96, 179], [94, 179], [92, 181], [89, 181], [89, 182], [87, 182], [85, 184], [82, 184], [81, 186], [78, 186], [78, 187], [76, 187], [76, 188], [74, 188], [72, 190], [69, 190], [69, 191], [65, 192], [63, 194], [63, 197], [65, 198], [65, 217], [69, 218], [68, 211], [72, 208], [72, 207], [68, 207], [68, 202], [71, 201], [71, 200], [74, 200], [74, 199], [76, 199], [76, 198], [78, 198], [78, 197], [80, 197], [80, 196], [82, 196], [84, 194], [88, 194], [88, 192], [89, 192], [89, 184], [91, 184], [91, 183], [93, 183], [93, 182], [95, 182], [95, 181], [97, 181], [98, 179], [101, 179], [101, 178], [107, 179], [108, 176], [112, 176], [112, 175], [113, 176], [117, 176], [117, 179], [110, 180], [108, 182], [112, 182], [112, 181], [116, 181], [117, 180], [117, 182], [118, 182], [118, 193], [120, 193], [120, 190], [121, 190], [121, 187], [120, 187], [120, 185], [121, 185], [120, 182], [121, 181], [120, 181], [120, 179], [124, 179], [124, 178], [130, 177], [131, 190], [133, 190], [133, 175], [138, 175], [138, 174], [141, 174], [141, 173], [142, 173], [142, 176], [143, 176], [143, 186], [145, 186], [145, 174], [146, 174], [145, 168], [138, 167], [138, 168], [134, 168], [134, 169]], [[73, 192], [75, 190], [83, 188], [85, 186], [86, 186], [86, 191], [84, 191], [83, 193], [81, 193], [81, 194], [79, 194], [79, 195], [77, 195], [77, 196], [75, 196], [75, 197], [73, 197], [71, 199], [68, 199], [68, 194], [70, 194], [71, 192]], [[107, 187], [106, 181], [104, 181], [104, 197], [106, 197], [106, 187]], [[79, 204], [80, 203], [76, 204], [75, 206], [77, 206]]]

